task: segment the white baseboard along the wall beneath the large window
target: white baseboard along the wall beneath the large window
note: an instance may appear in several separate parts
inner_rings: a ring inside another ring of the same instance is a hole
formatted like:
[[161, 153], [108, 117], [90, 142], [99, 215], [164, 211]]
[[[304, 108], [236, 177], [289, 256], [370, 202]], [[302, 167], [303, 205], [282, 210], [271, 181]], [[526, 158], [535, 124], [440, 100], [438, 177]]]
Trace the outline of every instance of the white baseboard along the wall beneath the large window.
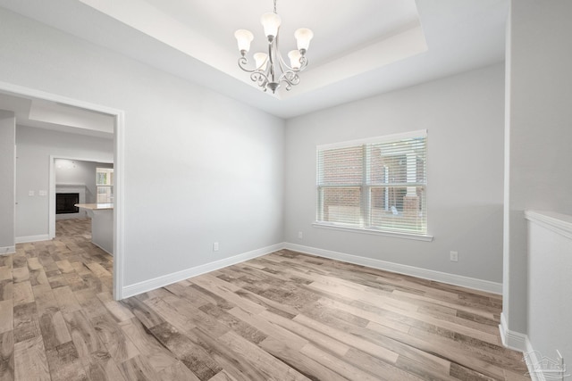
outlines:
[[330, 250], [318, 249], [315, 247], [303, 246], [301, 244], [284, 244], [285, 249], [295, 252], [317, 255], [319, 257], [330, 258], [332, 260], [355, 263], [374, 269], [383, 269], [412, 277], [435, 280], [454, 286], [463, 286], [475, 290], [486, 291], [492, 294], [502, 294], [502, 284], [488, 280], [476, 279], [474, 277], [463, 277], [431, 269], [422, 269], [414, 266], [402, 265], [389, 261], [374, 260], [373, 258], [360, 257], [346, 253], [332, 252]]

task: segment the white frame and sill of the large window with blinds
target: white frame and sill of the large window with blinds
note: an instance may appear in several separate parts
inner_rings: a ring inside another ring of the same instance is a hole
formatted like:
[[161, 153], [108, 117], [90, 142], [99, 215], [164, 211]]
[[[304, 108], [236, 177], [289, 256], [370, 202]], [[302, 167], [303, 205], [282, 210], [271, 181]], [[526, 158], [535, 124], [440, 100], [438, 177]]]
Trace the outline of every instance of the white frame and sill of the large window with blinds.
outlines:
[[[425, 171], [424, 171], [424, 179], [425, 182], [418, 183], [418, 182], [408, 182], [406, 180], [405, 183], [386, 183], [386, 184], [375, 184], [374, 181], [371, 181], [371, 174], [369, 171], [371, 170], [371, 160], [372, 160], [372, 147], [374, 145], [380, 144], [387, 144], [402, 141], [408, 138], [425, 138]], [[324, 151], [333, 150], [333, 149], [341, 149], [341, 148], [351, 148], [351, 147], [363, 147], [363, 158], [361, 162], [362, 166], [362, 175], [361, 175], [361, 182], [358, 184], [345, 184], [345, 185], [327, 185], [324, 184], [323, 178], [324, 173], [320, 170], [320, 153]], [[391, 134], [382, 137], [370, 137], [366, 139], [359, 139], [359, 140], [351, 140], [351, 141], [344, 141], [340, 143], [328, 144], [328, 145], [317, 145], [316, 146], [316, 190], [315, 190], [315, 222], [312, 224], [315, 228], [329, 228], [334, 230], [342, 230], [342, 231], [351, 231], [351, 232], [359, 232], [365, 234], [374, 234], [374, 235], [381, 235], [381, 236], [393, 236], [393, 237], [400, 237], [400, 238], [408, 238], [408, 239], [415, 239], [421, 241], [432, 241], [433, 236], [428, 234], [428, 217], [427, 217], [427, 207], [426, 207], [426, 199], [427, 199], [427, 130], [421, 129], [416, 131], [410, 131], [406, 133], [400, 134]], [[372, 226], [372, 190], [376, 188], [381, 189], [390, 189], [391, 187], [396, 186], [408, 186], [408, 187], [418, 187], [423, 186], [425, 189], [423, 195], [423, 203], [424, 210], [425, 210], [425, 231], [416, 233], [415, 231], [399, 231], [395, 230], [395, 228], [383, 228], [383, 226]], [[360, 192], [360, 204], [359, 204], [359, 224], [358, 226], [354, 223], [343, 223], [343, 222], [329, 222], [324, 221], [324, 189], [336, 189], [336, 188], [358, 188]]]

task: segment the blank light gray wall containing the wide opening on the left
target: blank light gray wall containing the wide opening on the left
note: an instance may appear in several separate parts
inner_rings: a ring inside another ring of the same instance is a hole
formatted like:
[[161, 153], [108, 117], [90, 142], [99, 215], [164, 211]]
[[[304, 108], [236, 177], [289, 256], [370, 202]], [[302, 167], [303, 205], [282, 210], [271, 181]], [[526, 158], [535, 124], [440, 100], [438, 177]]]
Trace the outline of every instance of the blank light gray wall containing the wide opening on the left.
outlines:
[[124, 112], [123, 286], [282, 242], [282, 120], [15, 13], [0, 25], [0, 80]]

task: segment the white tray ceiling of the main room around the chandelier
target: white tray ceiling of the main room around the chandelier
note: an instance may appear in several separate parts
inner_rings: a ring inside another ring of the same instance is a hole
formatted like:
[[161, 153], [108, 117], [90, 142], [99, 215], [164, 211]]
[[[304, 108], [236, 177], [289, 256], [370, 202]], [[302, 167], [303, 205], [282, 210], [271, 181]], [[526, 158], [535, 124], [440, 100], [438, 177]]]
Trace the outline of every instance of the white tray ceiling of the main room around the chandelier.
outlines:
[[509, 0], [278, 0], [284, 54], [295, 46], [295, 29], [315, 35], [299, 86], [278, 95], [262, 92], [239, 69], [233, 37], [249, 29], [250, 54], [264, 51], [259, 19], [272, 12], [272, 0], [0, 0], [0, 6], [288, 119], [502, 62]]

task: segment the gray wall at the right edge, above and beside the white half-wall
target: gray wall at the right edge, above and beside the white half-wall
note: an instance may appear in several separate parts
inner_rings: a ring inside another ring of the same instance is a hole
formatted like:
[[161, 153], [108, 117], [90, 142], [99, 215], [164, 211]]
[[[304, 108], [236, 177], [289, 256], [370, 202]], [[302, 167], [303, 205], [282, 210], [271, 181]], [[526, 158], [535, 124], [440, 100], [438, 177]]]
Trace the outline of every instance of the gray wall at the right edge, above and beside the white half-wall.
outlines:
[[513, 1], [508, 26], [503, 318], [526, 334], [524, 211], [572, 214], [572, 2]]

